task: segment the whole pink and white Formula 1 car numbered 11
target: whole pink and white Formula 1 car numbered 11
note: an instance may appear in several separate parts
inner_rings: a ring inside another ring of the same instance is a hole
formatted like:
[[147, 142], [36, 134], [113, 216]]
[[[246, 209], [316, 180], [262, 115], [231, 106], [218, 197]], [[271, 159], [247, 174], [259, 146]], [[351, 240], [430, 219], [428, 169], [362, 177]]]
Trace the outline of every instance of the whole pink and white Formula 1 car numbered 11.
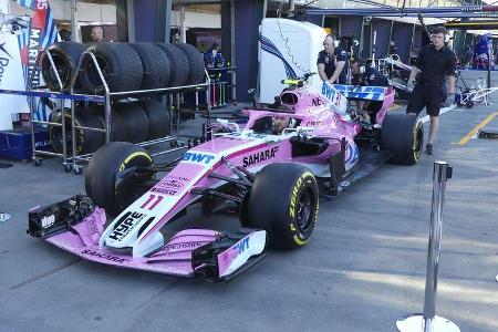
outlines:
[[[423, 127], [413, 115], [386, 114], [393, 90], [324, 85], [319, 93], [303, 81], [287, 83], [274, 104], [243, 111], [243, 127], [218, 123], [209, 141], [173, 163], [156, 164], [131, 143], [100, 148], [86, 169], [86, 196], [32, 209], [29, 234], [101, 263], [228, 280], [266, 248], [305, 246], [320, 196], [336, 195], [386, 160], [417, 163]], [[381, 100], [373, 125], [359, 120], [361, 112], [344, 112], [349, 98]], [[276, 117], [290, 118], [279, 135]], [[200, 203], [209, 215], [227, 201], [240, 231], [172, 234], [188, 206]]]

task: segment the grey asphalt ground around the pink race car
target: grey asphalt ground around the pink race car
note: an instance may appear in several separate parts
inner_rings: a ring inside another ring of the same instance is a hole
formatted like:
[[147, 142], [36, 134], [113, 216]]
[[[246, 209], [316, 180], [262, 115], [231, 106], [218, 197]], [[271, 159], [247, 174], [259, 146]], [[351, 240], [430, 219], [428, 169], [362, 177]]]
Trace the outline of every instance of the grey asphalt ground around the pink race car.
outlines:
[[[58, 159], [40, 168], [9, 160], [0, 169], [0, 211], [12, 215], [0, 224], [0, 331], [395, 331], [397, 318], [423, 310], [435, 160], [454, 167], [436, 312], [461, 331], [498, 331], [498, 141], [471, 138], [496, 116], [492, 101], [443, 114], [434, 156], [385, 165], [321, 201], [305, 248], [270, 251], [228, 283], [105, 267], [27, 236], [29, 208], [83, 193], [83, 177]], [[498, 132], [498, 116], [484, 128]], [[238, 227], [234, 216], [204, 219], [198, 207], [181, 220]]]

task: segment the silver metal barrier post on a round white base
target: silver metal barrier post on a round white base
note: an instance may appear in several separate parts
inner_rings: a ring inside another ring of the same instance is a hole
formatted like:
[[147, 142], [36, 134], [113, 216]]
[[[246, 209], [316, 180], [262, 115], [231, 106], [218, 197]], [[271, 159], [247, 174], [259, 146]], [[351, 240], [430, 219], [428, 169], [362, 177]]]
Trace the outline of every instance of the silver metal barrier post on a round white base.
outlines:
[[405, 315], [398, 319], [396, 321], [396, 328], [400, 332], [460, 331], [454, 322], [436, 315], [437, 273], [439, 270], [443, 207], [445, 204], [446, 181], [448, 178], [452, 178], [452, 173], [453, 168], [449, 167], [446, 162], [434, 163], [424, 313]]

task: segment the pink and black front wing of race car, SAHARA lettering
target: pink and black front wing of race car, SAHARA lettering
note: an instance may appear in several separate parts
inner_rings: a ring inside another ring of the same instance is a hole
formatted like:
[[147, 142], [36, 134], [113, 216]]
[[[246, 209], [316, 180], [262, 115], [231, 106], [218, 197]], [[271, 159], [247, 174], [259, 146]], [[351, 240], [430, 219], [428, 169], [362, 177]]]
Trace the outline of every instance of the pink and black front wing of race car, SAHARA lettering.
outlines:
[[[181, 230], [146, 257], [98, 247], [105, 211], [93, 207], [82, 216], [77, 212], [81, 197], [84, 196], [32, 209], [28, 234], [90, 261], [163, 274], [205, 276], [215, 281], [229, 280], [266, 256], [267, 234], [256, 229], [240, 229], [236, 234], [210, 229]], [[84, 199], [87, 203], [89, 198]]]

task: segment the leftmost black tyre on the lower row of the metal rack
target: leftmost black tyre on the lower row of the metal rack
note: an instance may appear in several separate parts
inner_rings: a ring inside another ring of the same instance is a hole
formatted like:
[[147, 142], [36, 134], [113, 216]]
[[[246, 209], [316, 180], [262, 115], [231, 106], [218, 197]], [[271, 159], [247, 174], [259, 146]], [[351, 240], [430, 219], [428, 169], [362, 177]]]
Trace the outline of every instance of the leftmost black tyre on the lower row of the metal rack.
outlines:
[[[52, 113], [52, 122], [62, 123], [61, 111], [54, 111]], [[85, 126], [92, 128], [103, 128], [98, 116], [93, 112], [87, 112], [86, 110], [76, 108], [74, 111], [74, 123], [76, 126]], [[71, 136], [71, 110], [65, 112], [65, 138], [68, 146], [68, 155], [72, 154], [72, 136]], [[50, 142], [53, 149], [56, 153], [62, 153], [62, 127], [50, 126], [49, 129]], [[90, 154], [95, 152], [105, 142], [105, 135], [103, 133], [79, 129], [75, 131], [76, 135], [76, 154]]]

